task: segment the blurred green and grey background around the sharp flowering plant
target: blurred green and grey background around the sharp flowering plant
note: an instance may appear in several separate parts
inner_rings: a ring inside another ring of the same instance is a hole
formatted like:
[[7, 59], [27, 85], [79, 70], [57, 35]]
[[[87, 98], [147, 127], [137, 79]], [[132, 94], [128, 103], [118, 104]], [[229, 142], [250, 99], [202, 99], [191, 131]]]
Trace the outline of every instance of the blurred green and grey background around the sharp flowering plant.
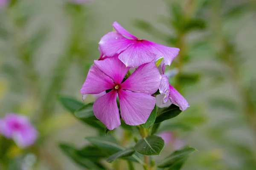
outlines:
[[[12, 0], [0, 9], [0, 116], [24, 114], [37, 127], [32, 169], [83, 169], [58, 143], [82, 146], [96, 130], [57, 96], [81, 99], [98, 42], [117, 21], [141, 39], [180, 48], [167, 69], [178, 71], [170, 81], [190, 108], [160, 130], [197, 148], [183, 170], [256, 170], [255, 0], [71, 1]], [[24, 152], [10, 150], [13, 164]]]

